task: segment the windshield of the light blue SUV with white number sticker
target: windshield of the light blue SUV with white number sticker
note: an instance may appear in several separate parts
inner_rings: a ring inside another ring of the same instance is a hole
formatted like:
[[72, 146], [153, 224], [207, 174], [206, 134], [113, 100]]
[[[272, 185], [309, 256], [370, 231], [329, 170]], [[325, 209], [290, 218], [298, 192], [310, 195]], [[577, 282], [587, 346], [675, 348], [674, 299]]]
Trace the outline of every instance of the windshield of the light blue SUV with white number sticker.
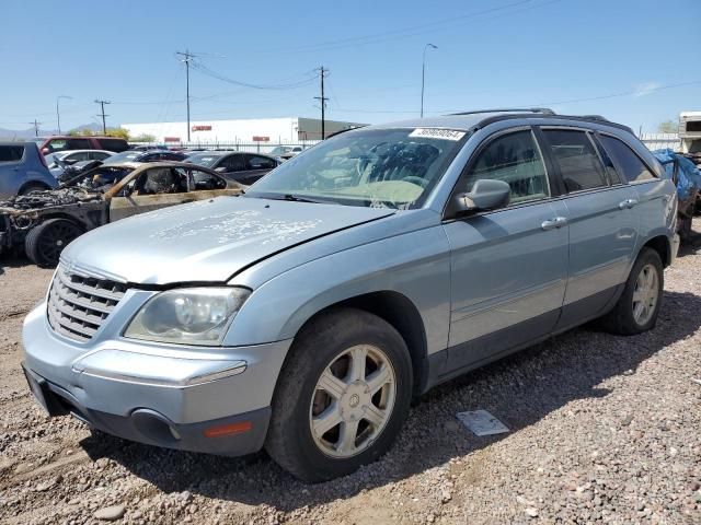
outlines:
[[272, 171], [246, 197], [409, 209], [422, 206], [467, 133], [364, 129], [335, 137]]

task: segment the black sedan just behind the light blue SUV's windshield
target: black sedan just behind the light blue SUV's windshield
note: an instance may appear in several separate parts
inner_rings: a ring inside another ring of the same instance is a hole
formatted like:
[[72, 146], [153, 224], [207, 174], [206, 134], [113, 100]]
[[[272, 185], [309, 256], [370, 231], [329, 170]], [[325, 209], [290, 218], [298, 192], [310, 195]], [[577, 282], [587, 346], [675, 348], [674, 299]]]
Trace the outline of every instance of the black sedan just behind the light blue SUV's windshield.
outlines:
[[192, 153], [185, 159], [199, 166], [221, 173], [237, 183], [251, 185], [271, 170], [277, 167], [280, 161], [260, 153], [243, 153], [240, 151], [205, 151]]

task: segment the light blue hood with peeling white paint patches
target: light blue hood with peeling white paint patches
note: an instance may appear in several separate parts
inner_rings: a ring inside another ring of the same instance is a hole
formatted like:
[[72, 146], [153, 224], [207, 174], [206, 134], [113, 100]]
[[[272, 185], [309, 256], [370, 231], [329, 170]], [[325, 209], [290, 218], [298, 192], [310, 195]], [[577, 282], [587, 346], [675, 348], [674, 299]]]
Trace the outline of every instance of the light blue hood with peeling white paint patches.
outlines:
[[226, 282], [292, 246], [393, 213], [390, 209], [219, 197], [93, 230], [73, 241], [61, 261], [140, 284]]

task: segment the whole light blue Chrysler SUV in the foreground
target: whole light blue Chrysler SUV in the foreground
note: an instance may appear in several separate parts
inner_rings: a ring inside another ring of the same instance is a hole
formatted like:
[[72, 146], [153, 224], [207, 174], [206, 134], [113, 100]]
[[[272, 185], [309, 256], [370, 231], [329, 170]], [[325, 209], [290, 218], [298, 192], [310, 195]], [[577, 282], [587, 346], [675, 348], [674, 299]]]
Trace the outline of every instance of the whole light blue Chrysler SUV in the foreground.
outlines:
[[678, 247], [662, 175], [600, 117], [349, 130], [242, 197], [71, 243], [25, 319], [26, 377], [49, 415], [124, 439], [343, 476], [432, 386], [590, 319], [655, 326]]

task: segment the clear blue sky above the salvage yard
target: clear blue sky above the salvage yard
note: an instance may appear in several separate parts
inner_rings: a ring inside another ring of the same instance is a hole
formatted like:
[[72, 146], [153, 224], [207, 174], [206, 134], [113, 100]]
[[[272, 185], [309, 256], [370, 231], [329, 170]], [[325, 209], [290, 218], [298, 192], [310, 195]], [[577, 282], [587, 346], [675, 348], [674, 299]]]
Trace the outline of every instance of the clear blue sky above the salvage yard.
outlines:
[[327, 118], [417, 116], [427, 43], [438, 46], [427, 114], [539, 104], [654, 131], [701, 109], [697, 0], [23, 0], [2, 11], [9, 129], [55, 128], [58, 95], [72, 97], [60, 101], [65, 129], [96, 121], [95, 98], [113, 102], [108, 125], [184, 120], [184, 49], [200, 54], [193, 120], [317, 117], [321, 65]]

